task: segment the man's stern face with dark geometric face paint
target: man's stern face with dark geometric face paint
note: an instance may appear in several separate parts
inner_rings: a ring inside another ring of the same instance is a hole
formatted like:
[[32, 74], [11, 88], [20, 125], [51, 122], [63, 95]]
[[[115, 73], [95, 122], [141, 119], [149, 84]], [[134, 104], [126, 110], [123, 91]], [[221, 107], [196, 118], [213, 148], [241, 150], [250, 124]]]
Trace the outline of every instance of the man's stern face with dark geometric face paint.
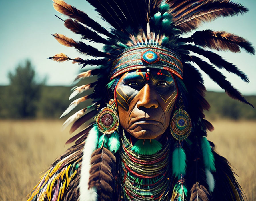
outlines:
[[138, 139], [155, 139], [165, 132], [177, 98], [169, 71], [141, 69], [125, 73], [116, 87], [120, 124]]

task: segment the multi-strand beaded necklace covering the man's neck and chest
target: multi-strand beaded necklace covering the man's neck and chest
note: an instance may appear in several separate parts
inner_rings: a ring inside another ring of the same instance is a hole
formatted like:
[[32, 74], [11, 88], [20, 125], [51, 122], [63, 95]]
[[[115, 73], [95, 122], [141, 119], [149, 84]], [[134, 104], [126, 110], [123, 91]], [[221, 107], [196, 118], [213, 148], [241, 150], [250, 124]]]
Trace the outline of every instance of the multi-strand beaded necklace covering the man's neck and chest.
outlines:
[[170, 188], [170, 141], [152, 155], [137, 154], [123, 131], [123, 144], [119, 150], [119, 178], [125, 201], [166, 200]]

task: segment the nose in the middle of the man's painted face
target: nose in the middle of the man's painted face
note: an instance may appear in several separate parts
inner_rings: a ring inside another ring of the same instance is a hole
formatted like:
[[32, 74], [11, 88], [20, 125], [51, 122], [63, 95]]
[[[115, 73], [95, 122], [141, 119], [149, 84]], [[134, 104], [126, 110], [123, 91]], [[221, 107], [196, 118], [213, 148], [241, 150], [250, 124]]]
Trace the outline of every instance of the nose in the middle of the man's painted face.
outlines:
[[157, 108], [158, 102], [157, 102], [157, 92], [155, 89], [149, 84], [145, 84], [145, 86], [141, 89], [141, 93], [138, 94], [140, 97], [137, 107], [139, 109], [142, 108]]

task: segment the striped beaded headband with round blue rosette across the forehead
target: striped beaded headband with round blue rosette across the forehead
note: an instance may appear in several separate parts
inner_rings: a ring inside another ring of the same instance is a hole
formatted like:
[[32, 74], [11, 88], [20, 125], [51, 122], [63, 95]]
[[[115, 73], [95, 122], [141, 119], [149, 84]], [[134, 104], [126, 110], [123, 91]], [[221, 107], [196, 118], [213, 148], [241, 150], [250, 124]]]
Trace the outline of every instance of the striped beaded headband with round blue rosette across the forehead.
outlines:
[[178, 53], [158, 45], [138, 45], [126, 48], [115, 60], [110, 80], [127, 71], [141, 68], [164, 69], [182, 79], [182, 63]]

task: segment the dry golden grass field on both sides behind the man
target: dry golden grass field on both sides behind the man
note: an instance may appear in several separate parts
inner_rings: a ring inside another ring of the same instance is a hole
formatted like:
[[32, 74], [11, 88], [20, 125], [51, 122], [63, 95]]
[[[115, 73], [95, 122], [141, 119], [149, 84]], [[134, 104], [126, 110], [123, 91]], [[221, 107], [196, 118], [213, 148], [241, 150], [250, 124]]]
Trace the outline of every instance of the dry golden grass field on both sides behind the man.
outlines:
[[[217, 152], [236, 168], [235, 172], [247, 198], [256, 198], [256, 121], [214, 120], [209, 133]], [[26, 200], [55, 158], [68, 147], [67, 130], [62, 120], [0, 121], [0, 200]]]

